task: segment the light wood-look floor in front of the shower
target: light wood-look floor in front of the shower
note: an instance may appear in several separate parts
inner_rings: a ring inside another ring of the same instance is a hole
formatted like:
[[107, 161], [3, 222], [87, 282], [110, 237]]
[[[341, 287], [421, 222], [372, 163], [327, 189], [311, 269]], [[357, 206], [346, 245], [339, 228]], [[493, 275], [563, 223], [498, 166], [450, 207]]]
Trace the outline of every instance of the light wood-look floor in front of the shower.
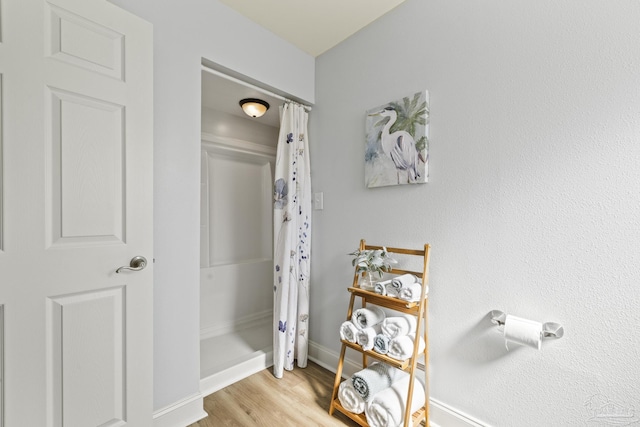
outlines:
[[285, 371], [282, 379], [272, 372], [265, 369], [205, 397], [209, 416], [189, 427], [358, 426], [338, 411], [329, 415], [333, 372], [313, 362]]

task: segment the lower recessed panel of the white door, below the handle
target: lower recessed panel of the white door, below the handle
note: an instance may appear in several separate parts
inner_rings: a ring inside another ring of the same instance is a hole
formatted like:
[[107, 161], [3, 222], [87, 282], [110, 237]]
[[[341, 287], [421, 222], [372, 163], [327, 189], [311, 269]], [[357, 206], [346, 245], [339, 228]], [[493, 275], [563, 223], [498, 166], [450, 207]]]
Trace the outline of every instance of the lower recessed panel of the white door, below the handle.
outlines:
[[126, 425], [124, 288], [47, 300], [54, 425]]

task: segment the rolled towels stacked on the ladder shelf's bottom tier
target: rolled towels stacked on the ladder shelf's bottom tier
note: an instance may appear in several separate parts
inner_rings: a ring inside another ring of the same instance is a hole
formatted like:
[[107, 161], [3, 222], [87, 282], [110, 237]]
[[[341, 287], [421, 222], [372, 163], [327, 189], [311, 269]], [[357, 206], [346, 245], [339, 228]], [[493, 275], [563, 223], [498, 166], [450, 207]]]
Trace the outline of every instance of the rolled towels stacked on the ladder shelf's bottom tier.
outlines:
[[425, 404], [424, 378], [416, 375], [411, 407], [406, 408], [410, 380], [407, 372], [383, 362], [373, 363], [340, 384], [338, 399], [347, 411], [364, 412], [371, 427], [398, 427], [405, 410], [413, 413]]

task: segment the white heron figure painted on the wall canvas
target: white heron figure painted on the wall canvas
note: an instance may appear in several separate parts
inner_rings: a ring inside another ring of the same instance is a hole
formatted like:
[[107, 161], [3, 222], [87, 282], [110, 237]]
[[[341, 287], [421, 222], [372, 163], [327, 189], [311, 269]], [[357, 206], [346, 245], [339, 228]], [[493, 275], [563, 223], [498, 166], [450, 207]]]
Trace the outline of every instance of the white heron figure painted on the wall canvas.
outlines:
[[417, 168], [418, 159], [421, 158], [421, 154], [416, 148], [416, 142], [413, 136], [404, 130], [389, 133], [389, 129], [391, 129], [391, 126], [393, 126], [398, 119], [396, 110], [392, 107], [386, 107], [377, 113], [370, 114], [370, 116], [389, 117], [389, 120], [382, 128], [380, 142], [382, 144], [382, 151], [391, 157], [393, 164], [396, 166], [398, 171], [398, 184], [400, 183], [400, 171], [407, 171], [408, 182], [416, 182], [416, 179], [420, 177]]

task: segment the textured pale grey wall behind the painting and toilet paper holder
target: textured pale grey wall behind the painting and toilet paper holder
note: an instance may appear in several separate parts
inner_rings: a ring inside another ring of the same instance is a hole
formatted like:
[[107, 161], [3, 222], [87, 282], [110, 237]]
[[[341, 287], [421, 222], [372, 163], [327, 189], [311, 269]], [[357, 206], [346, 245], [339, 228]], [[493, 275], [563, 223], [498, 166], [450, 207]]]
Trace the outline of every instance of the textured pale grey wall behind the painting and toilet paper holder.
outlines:
[[[635, 0], [408, 0], [320, 56], [310, 339], [339, 349], [360, 238], [429, 242], [433, 398], [495, 426], [640, 408], [639, 22]], [[366, 189], [365, 110], [423, 89], [430, 182]], [[507, 352], [492, 309], [566, 335]]]

